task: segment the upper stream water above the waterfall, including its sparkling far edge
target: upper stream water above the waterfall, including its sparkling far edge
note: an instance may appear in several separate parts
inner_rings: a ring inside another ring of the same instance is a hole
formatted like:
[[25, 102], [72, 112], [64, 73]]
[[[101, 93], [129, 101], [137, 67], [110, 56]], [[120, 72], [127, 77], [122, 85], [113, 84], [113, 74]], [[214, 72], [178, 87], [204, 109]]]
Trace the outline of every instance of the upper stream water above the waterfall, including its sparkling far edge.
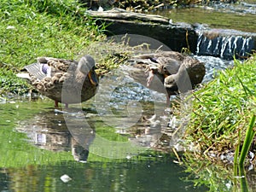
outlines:
[[172, 22], [201, 23], [211, 28], [256, 32], [255, 1], [239, 4], [214, 3], [189, 9], [164, 9], [155, 14], [172, 19]]

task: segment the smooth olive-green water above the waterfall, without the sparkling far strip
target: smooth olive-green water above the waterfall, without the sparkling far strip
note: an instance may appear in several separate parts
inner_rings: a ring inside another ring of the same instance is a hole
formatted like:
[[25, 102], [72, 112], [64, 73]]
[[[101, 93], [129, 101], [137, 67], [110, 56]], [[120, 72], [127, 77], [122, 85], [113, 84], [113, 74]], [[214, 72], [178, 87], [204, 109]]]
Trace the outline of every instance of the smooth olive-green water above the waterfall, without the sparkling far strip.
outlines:
[[167, 9], [156, 12], [172, 19], [172, 22], [207, 24], [211, 28], [236, 29], [242, 32], [256, 32], [256, 15], [230, 13], [218, 9]]

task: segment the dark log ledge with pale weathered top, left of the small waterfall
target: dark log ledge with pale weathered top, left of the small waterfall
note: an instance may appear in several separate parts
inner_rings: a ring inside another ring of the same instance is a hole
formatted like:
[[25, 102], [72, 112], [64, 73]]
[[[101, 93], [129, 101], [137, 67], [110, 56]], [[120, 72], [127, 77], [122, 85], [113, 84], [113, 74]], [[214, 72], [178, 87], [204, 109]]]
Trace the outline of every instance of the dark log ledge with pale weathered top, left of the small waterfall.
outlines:
[[[194, 27], [187, 23], [172, 23], [168, 18], [160, 15], [137, 14], [123, 9], [112, 9], [104, 12], [88, 11], [87, 14], [97, 19], [97, 25], [105, 23], [106, 32], [109, 36], [143, 35], [165, 44], [168, 46], [166, 50], [181, 51], [183, 48], [189, 48], [195, 53], [197, 34]], [[141, 44], [143, 43], [147, 42]], [[151, 43], [148, 42], [150, 49], [159, 49], [159, 44]], [[137, 44], [132, 44], [131, 41], [130, 45]]]

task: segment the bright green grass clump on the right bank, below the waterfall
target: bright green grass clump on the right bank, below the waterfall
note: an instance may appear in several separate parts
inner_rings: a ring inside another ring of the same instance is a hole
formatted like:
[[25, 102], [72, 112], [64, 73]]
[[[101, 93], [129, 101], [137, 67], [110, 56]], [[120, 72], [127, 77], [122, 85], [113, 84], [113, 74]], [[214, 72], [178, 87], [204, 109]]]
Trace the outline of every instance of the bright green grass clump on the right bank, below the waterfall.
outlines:
[[242, 142], [256, 113], [256, 55], [243, 63], [235, 60], [233, 68], [196, 91], [193, 108], [187, 141], [204, 154], [235, 150], [239, 132]]

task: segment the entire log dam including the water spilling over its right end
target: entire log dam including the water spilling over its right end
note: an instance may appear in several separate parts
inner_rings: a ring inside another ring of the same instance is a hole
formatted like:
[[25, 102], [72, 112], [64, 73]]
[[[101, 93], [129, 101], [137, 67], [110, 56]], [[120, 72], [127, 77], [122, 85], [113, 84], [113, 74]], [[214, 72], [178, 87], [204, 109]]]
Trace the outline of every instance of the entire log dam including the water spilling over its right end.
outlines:
[[[96, 24], [106, 26], [108, 36], [136, 34], [141, 39], [128, 42], [131, 46], [149, 44], [149, 49], [175, 50], [181, 52], [189, 49], [198, 55], [218, 56], [232, 60], [247, 58], [256, 49], [256, 33], [240, 32], [236, 30], [211, 29], [200, 24], [173, 23], [169, 18], [160, 15], [137, 14], [123, 9], [108, 11], [87, 11], [87, 14], [96, 18]], [[143, 38], [144, 36], [144, 38]], [[147, 38], [152, 38], [148, 41]], [[166, 45], [166, 46], [164, 46]]]

